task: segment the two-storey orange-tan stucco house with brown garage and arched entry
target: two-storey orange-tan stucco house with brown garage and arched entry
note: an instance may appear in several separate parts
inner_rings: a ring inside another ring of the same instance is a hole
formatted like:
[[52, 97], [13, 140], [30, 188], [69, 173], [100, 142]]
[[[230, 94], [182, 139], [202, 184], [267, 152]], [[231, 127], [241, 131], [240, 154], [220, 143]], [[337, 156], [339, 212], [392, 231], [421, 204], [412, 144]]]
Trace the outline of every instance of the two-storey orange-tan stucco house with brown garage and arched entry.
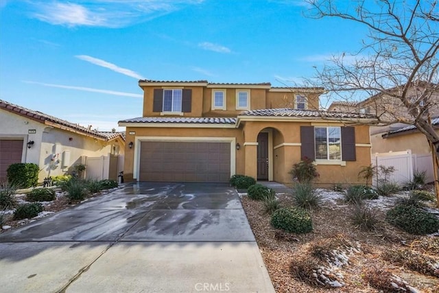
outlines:
[[[233, 174], [290, 183], [307, 156], [320, 184], [355, 183], [370, 164], [371, 115], [319, 111], [322, 88], [140, 80], [143, 115], [126, 126], [125, 178], [228, 182]], [[284, 108], [285, 102], [294, 105]], [[323, 115], [323, 117], [322, 117]]]

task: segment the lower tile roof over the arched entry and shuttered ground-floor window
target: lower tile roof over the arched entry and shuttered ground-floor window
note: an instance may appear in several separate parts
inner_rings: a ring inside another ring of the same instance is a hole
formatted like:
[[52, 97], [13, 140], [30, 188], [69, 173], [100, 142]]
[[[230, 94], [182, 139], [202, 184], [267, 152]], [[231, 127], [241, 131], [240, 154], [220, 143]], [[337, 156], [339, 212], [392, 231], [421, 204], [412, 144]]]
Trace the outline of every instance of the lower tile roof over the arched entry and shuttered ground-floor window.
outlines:
[[241, 113], [240, 116], [265, 116], [265, 117], [300, 117], [300, 118], [327, 118], [327, 119], [374, 119], [375, 115], [361, 114], [361, 113], [345, 113], [333, 111], [316, 111], [316, 110], [295, 110], [292, 108], [278, 108], [278, 109], [262, 109], [249, 110]]

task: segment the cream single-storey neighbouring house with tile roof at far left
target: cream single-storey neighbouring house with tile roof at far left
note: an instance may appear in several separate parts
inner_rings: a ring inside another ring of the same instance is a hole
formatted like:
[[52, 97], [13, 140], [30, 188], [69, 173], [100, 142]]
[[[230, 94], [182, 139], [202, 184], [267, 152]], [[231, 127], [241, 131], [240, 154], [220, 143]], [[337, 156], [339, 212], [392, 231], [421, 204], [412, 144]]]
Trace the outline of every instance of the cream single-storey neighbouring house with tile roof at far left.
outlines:
[[[0, 181], [12, 163], [36, 163], [38, 181], [86, 165], [88, 178], [117, 179], [123, 168], [121, 132], [99, 132], [0, 99]], [[119, 167], [118, 167], [119, 165]]]

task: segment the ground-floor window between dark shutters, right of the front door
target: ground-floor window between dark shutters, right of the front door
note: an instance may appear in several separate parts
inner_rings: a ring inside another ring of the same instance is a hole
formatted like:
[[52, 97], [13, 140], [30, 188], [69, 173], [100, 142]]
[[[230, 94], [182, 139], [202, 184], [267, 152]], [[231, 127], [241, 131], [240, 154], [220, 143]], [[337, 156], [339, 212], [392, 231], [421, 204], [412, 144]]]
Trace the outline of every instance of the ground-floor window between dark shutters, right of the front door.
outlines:
[[342, 159], [342, 130], [340, 127], [315, 127], [316, 160]]

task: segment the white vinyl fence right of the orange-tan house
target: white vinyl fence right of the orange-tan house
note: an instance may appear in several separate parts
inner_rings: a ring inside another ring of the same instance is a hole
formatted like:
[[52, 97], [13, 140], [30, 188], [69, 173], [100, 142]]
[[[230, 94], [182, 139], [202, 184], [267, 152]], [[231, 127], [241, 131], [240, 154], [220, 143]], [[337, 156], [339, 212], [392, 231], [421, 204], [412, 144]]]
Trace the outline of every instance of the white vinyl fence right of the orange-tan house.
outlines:
[[[372, 154], [372, 165], [393, 166], [395, 172], [390, 176], [390, 180], [399, 184], [404, 184], [413, 178], [414, 172], [425, 172], [427, 183], [434, 181], [433, 159], [431, 154], [412, 154], [412, 150], [404, 152], [385, 152]], [[374, 178], [374, 185], [377, 178]]]

